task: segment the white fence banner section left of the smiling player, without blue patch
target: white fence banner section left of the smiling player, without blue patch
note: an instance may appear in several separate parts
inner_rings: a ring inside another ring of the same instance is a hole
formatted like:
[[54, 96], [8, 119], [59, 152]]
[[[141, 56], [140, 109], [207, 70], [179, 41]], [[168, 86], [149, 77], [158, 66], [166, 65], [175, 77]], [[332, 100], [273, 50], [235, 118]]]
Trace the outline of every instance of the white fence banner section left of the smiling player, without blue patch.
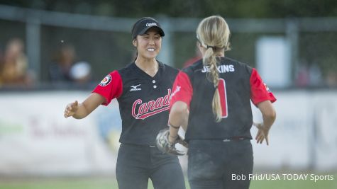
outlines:
[[0, 173], [114, 172], [116, 155], [99, 137], [97, 114], [82, 120], [63, 117], [67, 103], [81, 102], [88, 94], [54, 91], [1, 94]]

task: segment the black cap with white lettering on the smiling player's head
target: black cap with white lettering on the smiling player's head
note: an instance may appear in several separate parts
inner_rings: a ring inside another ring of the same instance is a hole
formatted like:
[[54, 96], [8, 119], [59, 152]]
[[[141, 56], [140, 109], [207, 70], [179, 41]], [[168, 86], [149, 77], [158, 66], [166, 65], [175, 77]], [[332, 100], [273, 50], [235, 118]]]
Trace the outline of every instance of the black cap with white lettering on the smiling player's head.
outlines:
[[136, 38], [137, 35], [143, 35], [146, 33], [146, 31], [150, 28], [157, 28], [159, 30], [160, 36], [165, 36], [164, 30], [160, 27], [160, 24], [158, 21], [155, 20], [155, 18], [151, 17], [143, 17], [140, 18], [132, 28], [132, 38]]

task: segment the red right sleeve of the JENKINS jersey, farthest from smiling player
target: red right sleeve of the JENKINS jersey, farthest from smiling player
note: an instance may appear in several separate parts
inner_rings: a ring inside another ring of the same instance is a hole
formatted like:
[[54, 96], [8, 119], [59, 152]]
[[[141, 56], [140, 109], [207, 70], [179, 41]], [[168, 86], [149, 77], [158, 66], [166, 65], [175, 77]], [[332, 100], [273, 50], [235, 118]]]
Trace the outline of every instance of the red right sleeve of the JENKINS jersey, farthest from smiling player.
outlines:
[[263, 83], [258, 71], [254, 68], [250, 75], [250, 99], [254, 105], [267, 100], [272, 103], [276, 101], [274, 94], [269, 91], [268, 86]]

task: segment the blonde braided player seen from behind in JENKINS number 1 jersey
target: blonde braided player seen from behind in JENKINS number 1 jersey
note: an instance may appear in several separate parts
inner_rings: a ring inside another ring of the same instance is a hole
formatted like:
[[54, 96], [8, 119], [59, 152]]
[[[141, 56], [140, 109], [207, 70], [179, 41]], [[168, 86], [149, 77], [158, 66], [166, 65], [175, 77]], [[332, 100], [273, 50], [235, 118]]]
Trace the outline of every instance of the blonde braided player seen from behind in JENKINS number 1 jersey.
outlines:
[[[275, 120], [274, 95], [258, 72], [224, 56], [229, 28], [221, 16], [204, 18], [197, 28], [203, 59], [177, 75], [170, 102], [168, 139], [174, 144], [179, 125], [186, 122], [189, 142], [188, 177], [196, 188], [249, 188], [253, 172], [250, 101], [263, 114], [256, 140], [268, 144], [268, 132]], [[232, 178], [245, 176], [245, 180]]]

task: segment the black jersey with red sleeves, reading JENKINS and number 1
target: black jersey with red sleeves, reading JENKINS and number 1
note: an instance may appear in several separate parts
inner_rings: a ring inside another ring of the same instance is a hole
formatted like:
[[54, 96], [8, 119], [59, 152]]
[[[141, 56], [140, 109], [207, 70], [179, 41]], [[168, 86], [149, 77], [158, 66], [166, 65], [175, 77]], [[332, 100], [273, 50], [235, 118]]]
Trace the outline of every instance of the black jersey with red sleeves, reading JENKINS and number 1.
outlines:
[[202, 59], [182, 69], [175, 79], [170, 105], [177, 101], [189, 105], [189, 125], [185, 135], [187, 141], [233, 137], [251, 139], [253, 115], [250, 100], [255, 105], [267, 100], [276, 101], [258, 71], [247, 64], [221, 57], [217, 69], [222, 108], [221, 122], [215, 121], [212, 111], [215, 87], [213, 82], [206, 79], [209, 67], [202, 64]]

